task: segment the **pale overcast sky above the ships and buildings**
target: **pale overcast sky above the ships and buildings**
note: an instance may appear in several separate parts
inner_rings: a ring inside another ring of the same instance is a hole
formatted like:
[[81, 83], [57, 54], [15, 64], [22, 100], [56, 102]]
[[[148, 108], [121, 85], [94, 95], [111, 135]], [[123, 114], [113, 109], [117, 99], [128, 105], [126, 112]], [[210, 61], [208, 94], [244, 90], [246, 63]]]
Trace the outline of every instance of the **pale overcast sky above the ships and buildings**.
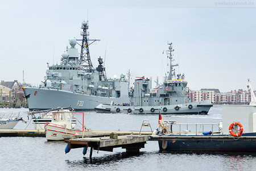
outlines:
[[[237, 3], [234, 3], [237, 2]], [[4, 81], [40, 84], [47, 62], [60, 64], [71, 37], [89, 19], [93, 66], [104, 57], [108, 77], [152, 77], [167, 72], [163, 50], [172, 42], [176, 73], [192, 90], [256, 90], [256, 2], [249, 1], [2, 1], [1, 67]], [[89, 14], [89, 15], [88, 15]], [[78, 46], [77, 46], [78, 47]]]

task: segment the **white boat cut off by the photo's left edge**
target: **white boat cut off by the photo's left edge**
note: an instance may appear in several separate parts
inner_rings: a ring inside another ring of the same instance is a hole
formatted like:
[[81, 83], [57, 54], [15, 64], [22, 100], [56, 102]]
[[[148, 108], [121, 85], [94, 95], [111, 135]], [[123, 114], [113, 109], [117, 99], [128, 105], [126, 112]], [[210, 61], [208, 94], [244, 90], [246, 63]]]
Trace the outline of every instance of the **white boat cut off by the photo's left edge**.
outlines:
[[20, 120], [20, 113], [0, 114], [0, 129], [13, 129]]

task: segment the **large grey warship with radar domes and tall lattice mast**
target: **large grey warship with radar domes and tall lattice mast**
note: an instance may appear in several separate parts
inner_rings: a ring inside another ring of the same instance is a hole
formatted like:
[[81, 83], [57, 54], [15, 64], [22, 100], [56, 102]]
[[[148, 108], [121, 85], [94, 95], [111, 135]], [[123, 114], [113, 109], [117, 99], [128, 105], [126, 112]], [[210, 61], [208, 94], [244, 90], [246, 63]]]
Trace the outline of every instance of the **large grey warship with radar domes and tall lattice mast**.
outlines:
[[[129, 103], [125, 76], [106, 78], [104, 62], [98, 58], [97, 68], [90, 60], [88, 22], [82, 22], [82, 39], [69, 40], [71, 47], [61, 57], [59, 65], [49, 65], [40, 87], [23, 87], [30, 110], [72, 106], [75, 110], [94, 110], [100, 103]], [[78, 43], [79, 42], [79, 43]], [[76, 48], [80, 45], [81, 50]]]

